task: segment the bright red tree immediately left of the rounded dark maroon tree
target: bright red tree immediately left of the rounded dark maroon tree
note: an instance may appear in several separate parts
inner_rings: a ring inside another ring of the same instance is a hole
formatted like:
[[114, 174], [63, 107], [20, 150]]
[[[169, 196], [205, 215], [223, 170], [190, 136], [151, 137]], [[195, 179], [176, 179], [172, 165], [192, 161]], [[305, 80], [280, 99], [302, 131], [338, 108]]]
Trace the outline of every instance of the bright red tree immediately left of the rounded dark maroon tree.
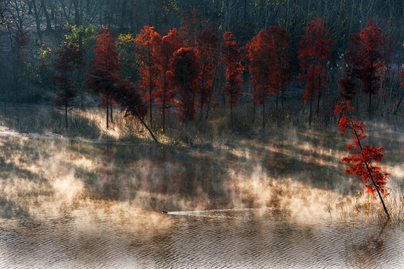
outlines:
[[156, 41], [156, 49], [154, 50], [158, 69], [156, 98], [163, 113], [163, 132], [166, 130], [166, 110], [173, 105], [175, 95], [174, 87], [167, 75], [170, 70], [170, 61], [174, 53], [181, 48], [181, 45], [177, 30], [174, 28], [166, 36], [163, 36], [160, 42]]

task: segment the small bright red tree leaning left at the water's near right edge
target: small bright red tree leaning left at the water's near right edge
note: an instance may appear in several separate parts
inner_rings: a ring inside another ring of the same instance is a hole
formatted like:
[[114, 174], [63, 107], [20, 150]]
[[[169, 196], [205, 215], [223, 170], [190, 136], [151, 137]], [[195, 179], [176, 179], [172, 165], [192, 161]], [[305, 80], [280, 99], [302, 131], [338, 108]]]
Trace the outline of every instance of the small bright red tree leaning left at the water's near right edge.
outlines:
[[355, 108], [350, 105], [349, 101], [341, 101], [334, 110], [335, 114], [340, 115], [339, 129], [341, 133], [350, 132], [353, 135], [351, 137], [352, 144], [347, 145], [346, 148], [354, 154], [341, 159], [351, 165], [345, 170], [345, 173], [359, 175], [365, 183], [367, 193], [371, 193], [373, 196], [375, 196], [375, 193], [378, 194], [384, 212], [390, 218], [383, 201], [383, 198], [389, 195], [386, 184], [390, 173], [382, 171], [379, 166], [373, 164], [373, 162], [380, 162], [384, 149], [382, 147], [371, 147], [363, 143], [366, 138], [366, 126], [362, 121], [358, 123], [358, 119], [349, 114], [353, 110]]

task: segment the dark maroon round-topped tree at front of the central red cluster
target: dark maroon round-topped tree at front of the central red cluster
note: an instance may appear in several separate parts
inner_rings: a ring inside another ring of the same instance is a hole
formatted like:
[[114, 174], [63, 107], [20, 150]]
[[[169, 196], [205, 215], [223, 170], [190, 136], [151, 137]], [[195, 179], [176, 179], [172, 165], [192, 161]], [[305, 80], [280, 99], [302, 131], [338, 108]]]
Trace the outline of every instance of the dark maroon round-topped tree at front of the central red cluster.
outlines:
[[181, 48], [174, 53], [170, 64], [170, 78], [177, 88], [180, 102], [177, 105], [178, 118], [185, 123], [186, 143], [188, 143], [188, 121], [195, 119], [194, 83], [198, 67], [195, 51], [192, 48]]

